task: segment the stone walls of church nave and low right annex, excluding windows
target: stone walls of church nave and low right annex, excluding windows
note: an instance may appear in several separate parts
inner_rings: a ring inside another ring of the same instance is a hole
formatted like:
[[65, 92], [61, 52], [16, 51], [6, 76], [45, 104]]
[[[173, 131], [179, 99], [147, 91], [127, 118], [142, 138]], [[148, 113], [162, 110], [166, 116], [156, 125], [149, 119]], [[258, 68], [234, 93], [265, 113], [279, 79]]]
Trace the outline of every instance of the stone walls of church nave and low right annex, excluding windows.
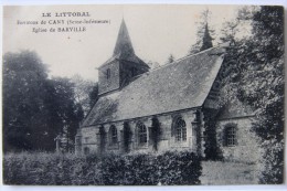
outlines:
[[[201, 113], [200, 113], [201, 114]], [[172, 124], [177, 117], [182, 117], [187, 125], [187, 141], [176, 141], [174, 131], [172, 132]], [[130, 128], [130, 140], [128, 150], [129, 152], [153, 152], [153, 142], [151, 141], [151, 116], [142, 117], [134, 120], [127, 120]], [[200, 152], [204, 157], [204, 142], [201, 139], [204, 121], [196, 121], [195, 110], [188, 110], [181, 113], [172, 113], [157, 116], [160, 123], [160, 135], [158, 142], [158, 152], [167, 150], [191, 150]], [[257, 137], [251, 131], [253, 117], [235, 117], [219, 119], [215, 124], [216, 144], [219, 155], [224, 160], [255, 162], [258, 160], [259, 148], [257, 146]], [[137, 135], [137, 124], [142, 123], [147, 128], [147, 144], [140, 145]], [[125, 153], [124, 149], [124, 123], [117, 121], [103, 125], [105, 131], [105, 152]], [[117, 129], [117, 142], [110, 144], [109, 128], [114, 125]], [[234, 146], [226, 146], [224, 144], [225, 128], [230, 125], [236, 128], [236, 144]], [[81, 129], [81, 149], [76, 147], [77, 152], [85, 152], [85, 148], [88, 148], [88, 152], [100, 152], [100, 126], [84, 127]], [[103, 149], [103, 148], [102, 148]], [[216, 153], [217, 155], [217, 153]]]

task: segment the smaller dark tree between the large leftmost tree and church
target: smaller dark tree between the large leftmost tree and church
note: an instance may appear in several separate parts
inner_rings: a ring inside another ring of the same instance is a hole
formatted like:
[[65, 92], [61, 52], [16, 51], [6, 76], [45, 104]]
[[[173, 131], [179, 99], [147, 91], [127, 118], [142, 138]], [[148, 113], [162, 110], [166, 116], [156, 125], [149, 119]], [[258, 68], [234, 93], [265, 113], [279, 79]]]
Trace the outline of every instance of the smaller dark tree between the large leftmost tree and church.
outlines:
[[[82, 106], [74, 99], [74, 84], [68, 78], [56, 77], [49, 81], [49, 99], [46, 107], [47, 125], [53, 129], [53, 136], [62, 135], [67, 138], [67, 145], [74, 141], [79, 121], [84, 118]], [[66, 147], [71, 150], [71, 148]], [[66, 150], [67, 151], [67, 150]]]

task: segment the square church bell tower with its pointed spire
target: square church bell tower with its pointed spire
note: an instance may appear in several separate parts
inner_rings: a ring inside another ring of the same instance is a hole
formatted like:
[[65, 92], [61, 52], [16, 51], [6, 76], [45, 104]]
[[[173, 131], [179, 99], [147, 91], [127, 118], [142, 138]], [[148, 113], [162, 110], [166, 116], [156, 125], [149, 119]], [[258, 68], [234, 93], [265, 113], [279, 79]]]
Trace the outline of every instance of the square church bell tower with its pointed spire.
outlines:
[[113, 56], [98, 68], [98, 93], [107, 94], [125, 87], [135, 76], [149, 71], [136, 54], [123, 19]]

